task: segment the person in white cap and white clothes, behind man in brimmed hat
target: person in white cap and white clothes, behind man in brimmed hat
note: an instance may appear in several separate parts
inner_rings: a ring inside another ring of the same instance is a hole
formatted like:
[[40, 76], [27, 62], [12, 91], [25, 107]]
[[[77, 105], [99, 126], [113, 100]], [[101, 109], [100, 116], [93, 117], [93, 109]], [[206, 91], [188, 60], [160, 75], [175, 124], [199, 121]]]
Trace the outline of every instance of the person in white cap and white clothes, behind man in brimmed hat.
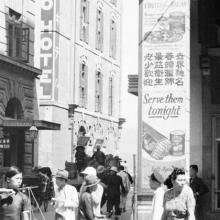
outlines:
[[[81, 172], [81, 174], [83, 174], [84, 176], [84, 181], [82, 183], [82, 186], [80, 188], [80, 197], [82, 195], [83, 192], [85, 192], [87, 190], [87, 186], [86, 186], [86, 177], [88, 175], [93, 175], [97, 177], [97, 172], [96, 169], [93, 167], [87, 167], [84, 171]], [[95, 217], [99, 218], [102, 217], [101, 214], [101, 201], [102, 201], [102, 196], [103, 196], [103, 187], [100, 183], [97, 183], [97, 186], [92, 190], [91, 192], [91, 198], [92, 198], [92, 202], [93, 202], [93, 213], [95, 215]]]

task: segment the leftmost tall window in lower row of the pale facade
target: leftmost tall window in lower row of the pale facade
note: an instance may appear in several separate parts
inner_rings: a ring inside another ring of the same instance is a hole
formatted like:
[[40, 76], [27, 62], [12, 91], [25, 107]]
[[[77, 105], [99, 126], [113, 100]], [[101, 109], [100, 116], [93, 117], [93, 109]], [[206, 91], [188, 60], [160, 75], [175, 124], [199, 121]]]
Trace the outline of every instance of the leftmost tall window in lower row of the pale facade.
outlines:
[[87, 107], [88, 67], [83, 62], [80, 64], [79, 73], [79, 105]]

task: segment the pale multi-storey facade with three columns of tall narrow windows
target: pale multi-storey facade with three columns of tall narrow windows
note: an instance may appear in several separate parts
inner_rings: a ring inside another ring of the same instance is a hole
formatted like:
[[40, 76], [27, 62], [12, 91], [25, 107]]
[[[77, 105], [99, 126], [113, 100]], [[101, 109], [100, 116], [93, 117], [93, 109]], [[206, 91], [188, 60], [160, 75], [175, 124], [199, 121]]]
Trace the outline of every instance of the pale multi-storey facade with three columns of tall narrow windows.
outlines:
[[114, 153], [120, 136], [121, 2], [79, 0], [75, 5], [74, 140], [80, 127]]

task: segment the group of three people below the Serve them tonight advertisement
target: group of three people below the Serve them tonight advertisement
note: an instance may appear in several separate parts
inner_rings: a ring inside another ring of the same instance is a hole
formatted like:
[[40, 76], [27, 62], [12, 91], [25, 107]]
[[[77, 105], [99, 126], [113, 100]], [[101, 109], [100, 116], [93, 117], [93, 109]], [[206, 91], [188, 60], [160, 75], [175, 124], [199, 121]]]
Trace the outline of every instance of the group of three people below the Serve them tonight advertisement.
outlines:
[[164, 180], [157, 171], [150, 175], [154, 190], [151, 220], [200, 220], [200, 199], [209, 190], [197, 176], [198, 166], [190, 166], [190, 181], [186, 182], [184, 169], [175, 168]]

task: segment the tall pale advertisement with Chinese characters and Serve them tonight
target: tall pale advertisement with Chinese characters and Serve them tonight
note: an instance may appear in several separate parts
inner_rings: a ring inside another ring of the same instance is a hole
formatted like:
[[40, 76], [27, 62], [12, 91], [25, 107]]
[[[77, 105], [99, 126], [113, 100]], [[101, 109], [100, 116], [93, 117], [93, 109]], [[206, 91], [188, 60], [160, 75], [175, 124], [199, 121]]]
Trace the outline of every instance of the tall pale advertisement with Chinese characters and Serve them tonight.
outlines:
[[144, 0], [141, 15], [139, 169], [141, 192], [149, 175], [166, 178], [189, 160], [189, 0]]

